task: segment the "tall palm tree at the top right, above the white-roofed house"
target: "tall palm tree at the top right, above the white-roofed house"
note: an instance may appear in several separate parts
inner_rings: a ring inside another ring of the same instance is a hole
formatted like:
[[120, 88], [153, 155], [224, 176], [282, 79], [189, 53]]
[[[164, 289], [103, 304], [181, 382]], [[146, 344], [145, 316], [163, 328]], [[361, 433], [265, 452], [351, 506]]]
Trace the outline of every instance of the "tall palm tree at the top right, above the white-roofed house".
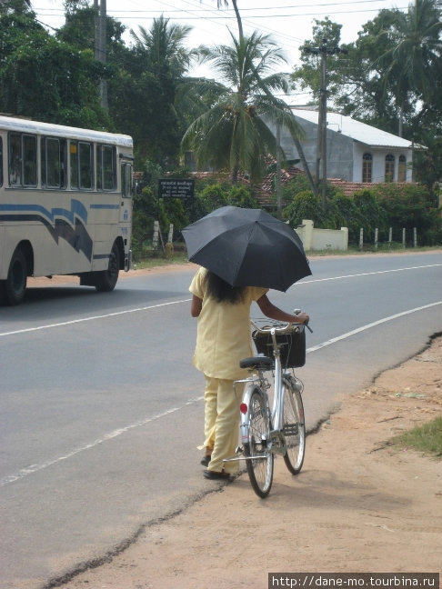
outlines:
[[[382, 13], [381, 13], [382, 15]], [[437, 0], [415, 0], [406, 14], [385, 11], [386, 22], [379, 36], [387, 36], [390, 48], [376, 65], [383, 68], [382, 82], [396, 101], [399, 136], [407, 106], [417, 101], [431, 103], [440, 94], [435, 81], [442, 76], [442, 20]]]

